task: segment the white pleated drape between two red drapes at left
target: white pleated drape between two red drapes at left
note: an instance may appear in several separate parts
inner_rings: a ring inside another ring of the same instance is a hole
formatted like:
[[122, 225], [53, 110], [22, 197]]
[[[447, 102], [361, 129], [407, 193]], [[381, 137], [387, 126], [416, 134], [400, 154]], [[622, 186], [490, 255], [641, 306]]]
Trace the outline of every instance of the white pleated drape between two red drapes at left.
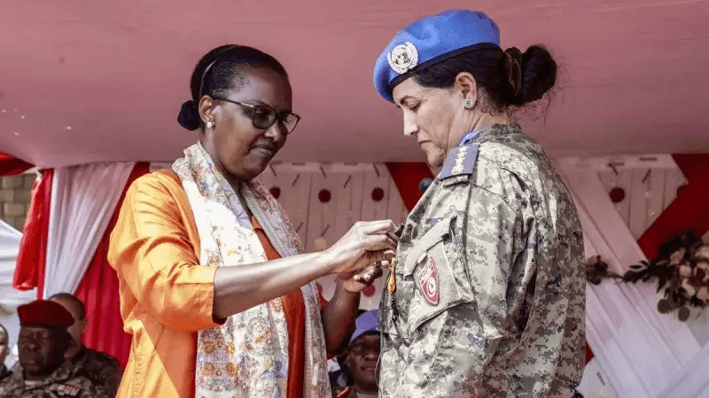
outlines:
[[73, 293], [96, 253], [135, 163], [55, 169], [43, 297]]

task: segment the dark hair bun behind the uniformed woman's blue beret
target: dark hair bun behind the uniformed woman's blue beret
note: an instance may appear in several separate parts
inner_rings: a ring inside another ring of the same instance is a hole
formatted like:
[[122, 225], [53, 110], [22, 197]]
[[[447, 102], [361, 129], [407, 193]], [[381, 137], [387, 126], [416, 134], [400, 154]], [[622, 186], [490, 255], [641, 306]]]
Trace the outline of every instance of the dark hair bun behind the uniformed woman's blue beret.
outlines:
[[502, 100], [521, 106], [541, 99], [557, 81], [557, 63], [549, 50], [530, 46], [524, 53], [516, 47], [504, 50]]

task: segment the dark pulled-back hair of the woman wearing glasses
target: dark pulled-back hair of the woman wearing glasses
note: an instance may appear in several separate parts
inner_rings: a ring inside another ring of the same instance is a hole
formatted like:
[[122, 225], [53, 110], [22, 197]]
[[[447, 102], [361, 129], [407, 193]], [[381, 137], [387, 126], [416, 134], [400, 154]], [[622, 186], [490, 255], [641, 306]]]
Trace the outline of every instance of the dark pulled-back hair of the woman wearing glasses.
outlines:
[[199, 99], [202, 96], [223, 96], [227, 91], [241, 87], [247, 68], [265, 68], [288, 77], [276, 58], [253, 47], [227, 44], [211, 50], [202, 57], [192, 72], [190, 91], [192, 99], [183, 103], [177, 122], [188, 130], [203, 127], [199, 117]]

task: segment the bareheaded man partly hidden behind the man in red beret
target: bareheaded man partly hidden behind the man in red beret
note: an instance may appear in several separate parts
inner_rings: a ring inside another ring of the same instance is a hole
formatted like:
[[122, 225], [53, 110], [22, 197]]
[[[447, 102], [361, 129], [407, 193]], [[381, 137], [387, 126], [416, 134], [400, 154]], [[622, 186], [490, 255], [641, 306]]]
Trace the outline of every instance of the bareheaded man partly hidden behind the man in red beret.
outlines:
[[66, 358], [74, 365], [74, 373], [86, 376], [97, 386], [103, 387], [106, 394], [115, 396], [123, 374], [121, 364], [113, 356], [83, 345], [82, 335], [87, 325], [83, 302], [68, 293], [52, 295], [50, 300], [61, 304], [74, 317], [74, 324], [69, 326], [68, 332], [76, 344], [66, 352]]

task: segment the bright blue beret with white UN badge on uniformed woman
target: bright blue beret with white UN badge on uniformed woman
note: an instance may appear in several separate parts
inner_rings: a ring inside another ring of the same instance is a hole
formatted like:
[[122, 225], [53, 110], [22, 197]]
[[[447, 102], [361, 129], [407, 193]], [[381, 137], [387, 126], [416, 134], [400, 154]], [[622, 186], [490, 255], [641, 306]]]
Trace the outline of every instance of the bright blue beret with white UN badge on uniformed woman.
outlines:
[[448, 10], [418, 19], [399, 31], [374, 65], [374, 87], [393, 103], [388, 88], [418, 68], [436, 64], [480, 44], [500, 46], [500, 29], [485, 13]]

